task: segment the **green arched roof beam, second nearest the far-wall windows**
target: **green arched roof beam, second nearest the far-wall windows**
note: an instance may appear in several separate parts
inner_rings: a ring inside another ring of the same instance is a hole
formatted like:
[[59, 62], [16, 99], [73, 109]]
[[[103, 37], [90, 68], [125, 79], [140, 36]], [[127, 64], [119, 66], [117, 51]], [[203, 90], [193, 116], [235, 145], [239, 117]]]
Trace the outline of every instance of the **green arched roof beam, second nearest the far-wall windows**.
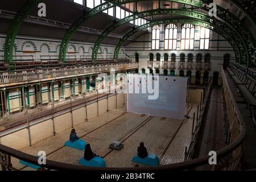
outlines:
[[[184, 15], [190, 18], [199, 18], [199, 19], [203, 19], [203, 20], [207, 20], [208, 22], [210, 22], [212, 20], [212, 18], [206, 14], [203, 13], [199, 13], [197, 11], [191, 11], [191, 10], [179, 10], [179, 9], [156, 9], [156, 10], [148, 10], [148, 11], [143, 11], [140, 13], [135, 13], [131, 16], [127, 16], [126, 18], [123, 18], [121, 20], [119, 20], [118, 22], [114, 22], [112, 26], [106, 28], [106, 30], [104, 32], [102, 32], [101, 35], [98, 36], [98, 39], [96, 41], [96, 43], [94, 44], [94, 48], [93, 48], [93, 53], [92, 53], [92, 60], [96, 60], [97, 59], [97, 52], [98, 52], [98, 48], [100, 47], [100, 44], [102, 42], [102, 40], [104, 40], [104, 38], [110, 34], [110, 32], [112, 32], [115, 28], [122, 26], [125, 23], [130, 22], [131, 20], [137, 19], [137, 18], [143, 18], [146, 16], [152, 16], [152, 15], [161, 15], [161, 14], [174, 14], [174, 15]], [[236, 16], [226, 16], [226, 10], [222, 9], [221, 7], [218, 9], [217, 14], [219, 17], [221, 17], [222, 19], [227, 19], [229, 18], [229, 20], [231, 19], [230, 22], [232, 22], [232, 24], [230, 25], [231, 27], [234, 28], [234, 30], [239, 29], [239, 32], [247, 32], [248, 36], [252, 36], [250, 34], [250, 31], [246, 30], [245, 26], [241, 26], [241, 22], [239, 19], [236, 18]], [[241, 27], [241, 28], [238, 28]], [[240, 35], [242, 36], [242, 35]], [[255, 41], [254, 39], [245, 39], [244, 37], [242, 37], [243, 40], [247, 40], [247, 42], [245, 43], [245, 45], [252, 45], [252, 47], [255, 49]], [[251, 47], [250, 47], [251, 48]], [[248, 47], [246, 47], [246, 50], [249, 49]], [[253, 52], [253, 51], [251, 51]], [[246, 53], [246, 52], [245, 52]], [[248, 59], [248, 57], [247, 57]], [[249, 61], [246, 61], [246, 63]]]

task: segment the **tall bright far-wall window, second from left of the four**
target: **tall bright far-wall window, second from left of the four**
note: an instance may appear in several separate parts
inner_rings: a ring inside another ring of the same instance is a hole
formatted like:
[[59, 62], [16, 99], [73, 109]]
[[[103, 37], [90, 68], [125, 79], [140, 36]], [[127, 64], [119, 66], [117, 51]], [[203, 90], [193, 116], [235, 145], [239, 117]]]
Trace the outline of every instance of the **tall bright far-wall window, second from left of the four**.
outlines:
[[177, 45], [177, 26], [168, 24], [164, 32], [164, 49], [176, 49]]

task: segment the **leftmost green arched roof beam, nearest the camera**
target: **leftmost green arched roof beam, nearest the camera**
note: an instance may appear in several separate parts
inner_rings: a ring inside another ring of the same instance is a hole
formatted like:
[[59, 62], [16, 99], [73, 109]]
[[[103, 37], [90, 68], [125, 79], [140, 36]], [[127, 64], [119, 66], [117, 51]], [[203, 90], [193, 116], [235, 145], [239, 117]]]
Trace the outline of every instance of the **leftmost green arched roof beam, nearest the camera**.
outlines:
[[18, 34], [24, 19], [39, 2], [40, 0], [27, 0], [27, 2], [19, 9], [14, 19], [11, 20], [5, 39], [5, 63], [10, 64], [11, 69], [13, 68], [13, 46], [15, 37]]

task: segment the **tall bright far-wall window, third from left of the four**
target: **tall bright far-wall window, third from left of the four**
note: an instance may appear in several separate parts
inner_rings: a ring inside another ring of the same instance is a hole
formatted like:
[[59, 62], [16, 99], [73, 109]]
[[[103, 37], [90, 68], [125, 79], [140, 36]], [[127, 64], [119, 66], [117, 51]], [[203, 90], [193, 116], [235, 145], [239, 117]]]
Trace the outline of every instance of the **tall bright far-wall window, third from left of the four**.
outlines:
[[195, 26], [184, 24], [181, 28], [181, 49], [193, 49], [195, 38]]

